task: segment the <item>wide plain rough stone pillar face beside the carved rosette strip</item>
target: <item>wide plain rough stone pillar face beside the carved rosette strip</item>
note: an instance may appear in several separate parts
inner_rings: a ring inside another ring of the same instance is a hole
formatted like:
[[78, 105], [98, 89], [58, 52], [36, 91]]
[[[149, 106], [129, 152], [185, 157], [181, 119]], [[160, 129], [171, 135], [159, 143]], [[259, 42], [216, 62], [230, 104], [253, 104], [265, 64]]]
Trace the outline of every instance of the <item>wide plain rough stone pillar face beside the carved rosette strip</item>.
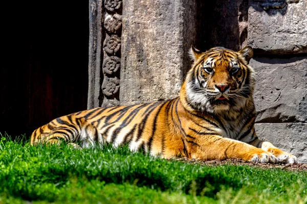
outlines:
[[179, 96], [186, 20], [183, 0], [123, 3], [121, 105]]

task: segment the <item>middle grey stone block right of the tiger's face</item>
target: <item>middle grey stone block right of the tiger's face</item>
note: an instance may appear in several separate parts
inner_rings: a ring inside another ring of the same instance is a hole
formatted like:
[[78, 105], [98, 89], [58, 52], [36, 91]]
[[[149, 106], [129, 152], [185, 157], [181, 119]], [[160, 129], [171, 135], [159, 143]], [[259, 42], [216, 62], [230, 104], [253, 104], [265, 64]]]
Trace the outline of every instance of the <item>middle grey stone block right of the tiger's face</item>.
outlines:
[[253, 58], [256, 122], [307, 122], [307, 57]]

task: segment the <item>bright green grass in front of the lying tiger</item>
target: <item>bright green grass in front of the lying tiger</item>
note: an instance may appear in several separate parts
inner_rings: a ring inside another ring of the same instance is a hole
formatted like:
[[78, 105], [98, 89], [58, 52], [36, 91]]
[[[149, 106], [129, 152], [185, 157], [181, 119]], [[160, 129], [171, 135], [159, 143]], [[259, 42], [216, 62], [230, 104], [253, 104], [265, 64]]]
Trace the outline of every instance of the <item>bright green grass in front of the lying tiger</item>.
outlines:
[[307, 172], [0, 139], [0, 203], [307, 203]]

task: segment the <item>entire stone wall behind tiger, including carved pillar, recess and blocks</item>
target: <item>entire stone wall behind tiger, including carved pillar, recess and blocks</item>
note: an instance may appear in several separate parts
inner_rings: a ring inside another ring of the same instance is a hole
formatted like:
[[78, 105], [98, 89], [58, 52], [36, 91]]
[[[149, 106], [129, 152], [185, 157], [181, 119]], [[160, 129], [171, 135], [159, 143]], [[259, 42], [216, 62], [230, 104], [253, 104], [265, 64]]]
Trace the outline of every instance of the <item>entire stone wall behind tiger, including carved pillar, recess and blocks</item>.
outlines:
[[306, 19], [305, 0], [91, 0], [87, 108], [177, 97], [191, 45], [250, 45], [257, 135], [307, 162]]

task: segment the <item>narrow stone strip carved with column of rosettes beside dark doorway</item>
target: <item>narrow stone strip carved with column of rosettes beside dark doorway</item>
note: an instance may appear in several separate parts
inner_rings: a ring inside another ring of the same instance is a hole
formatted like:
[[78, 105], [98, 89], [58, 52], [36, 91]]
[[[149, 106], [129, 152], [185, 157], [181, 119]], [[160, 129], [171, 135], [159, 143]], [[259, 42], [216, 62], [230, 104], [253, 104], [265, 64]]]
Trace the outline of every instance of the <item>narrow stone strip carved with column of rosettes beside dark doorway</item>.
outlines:
[[119, 105], [121, 0], [90, 0], [87, 108]]

